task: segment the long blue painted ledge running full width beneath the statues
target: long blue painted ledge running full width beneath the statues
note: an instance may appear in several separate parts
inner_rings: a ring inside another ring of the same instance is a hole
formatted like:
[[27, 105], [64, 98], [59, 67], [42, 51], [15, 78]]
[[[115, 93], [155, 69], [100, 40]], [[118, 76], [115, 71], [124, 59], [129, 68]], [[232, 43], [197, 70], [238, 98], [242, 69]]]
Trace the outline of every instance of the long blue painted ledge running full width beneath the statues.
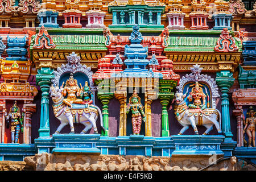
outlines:
[[35, 139], [35, 144], [1, 143], [0, 160], [22, 161], [26, 156], [43, 152], [170, 157], [216, 154], [256, 160], [256, 148], [236, 147], [236, 144], [236, 141], [222, 135], [101, 137], [100, 134], [53, 134], [53, 137]]

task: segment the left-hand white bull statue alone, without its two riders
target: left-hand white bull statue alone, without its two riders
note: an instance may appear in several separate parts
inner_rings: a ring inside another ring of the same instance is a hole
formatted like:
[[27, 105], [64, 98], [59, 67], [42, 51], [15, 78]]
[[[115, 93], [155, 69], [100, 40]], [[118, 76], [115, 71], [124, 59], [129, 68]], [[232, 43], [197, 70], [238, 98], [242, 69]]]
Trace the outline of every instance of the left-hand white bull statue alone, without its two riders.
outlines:
[[50, 93], [53, 101], [53, 113], [55, 117], [60, 120], [60, 126], [55, 131], [55, 134], [60, 133], [64, 126], [70, 125], [71, 133], [75, 133], [73, 122], [82, 123], [85, 128], [81, 134], [85, 134], [88, 130], [94, 129], [94, 133], [98, 133], [96, 121], [100, 115], [101, 128], [105, 131], [102, 124], [102, 114], [100, 108], [95, 105], [72, 105], [72, 109], [65, 105], [64, 97], [61, 94], [62, 88], [59, 86], [51, 86]]

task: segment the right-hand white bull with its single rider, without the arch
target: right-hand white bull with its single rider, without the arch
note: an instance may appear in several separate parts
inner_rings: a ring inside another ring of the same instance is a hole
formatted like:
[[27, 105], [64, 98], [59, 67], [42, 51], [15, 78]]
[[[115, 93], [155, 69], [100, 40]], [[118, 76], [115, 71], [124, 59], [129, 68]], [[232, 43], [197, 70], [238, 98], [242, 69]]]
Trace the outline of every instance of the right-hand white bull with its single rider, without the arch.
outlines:
[[[216, 126], [218, 134], [224, 134], [221, 131], [221, 113], [219, 110], [214, 108], [207, 108], [205, 105], [206, 95], [203, 89], [200, 87], [199, 82], [193, 84], [192, 92], [187, 97], [189, 101], [193, 100], [193, 104], [187, 106], [185, 98], [187, 92], [175, 93], [175, 107], [174, 113], [177, 121], [183, 126], [178, 135], [182, 135], [184, 131], [189, 128], [189, 125], [193, 127], [196, 135], [199, 135], [196, 126], [203, 125], [207, 128], [203, 135], [207, 135], [209, 131], [213, 129], [213, 125]], [[203, 100], [203, 104], [201, 102]], [[208, 107], [209, 104], [207, 103]]]

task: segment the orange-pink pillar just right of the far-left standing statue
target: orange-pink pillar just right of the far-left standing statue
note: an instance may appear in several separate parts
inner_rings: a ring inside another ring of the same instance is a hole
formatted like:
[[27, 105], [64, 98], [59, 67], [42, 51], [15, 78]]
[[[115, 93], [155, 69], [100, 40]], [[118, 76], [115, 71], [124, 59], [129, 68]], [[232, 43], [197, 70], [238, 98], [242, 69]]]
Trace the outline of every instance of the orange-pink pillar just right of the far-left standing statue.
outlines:
[[24, 120], [23, 120], [23, 143], [31, 143], [31, 121], [32, 114], [36, 111], [36, 104], [28, 103], [23, 105]]

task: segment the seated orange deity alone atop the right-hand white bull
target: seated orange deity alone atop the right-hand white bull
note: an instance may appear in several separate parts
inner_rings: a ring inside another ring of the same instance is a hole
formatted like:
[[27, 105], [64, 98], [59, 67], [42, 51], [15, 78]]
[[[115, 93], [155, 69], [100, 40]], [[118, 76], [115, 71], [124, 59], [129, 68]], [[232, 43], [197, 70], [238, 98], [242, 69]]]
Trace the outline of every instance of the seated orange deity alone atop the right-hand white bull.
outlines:
[[[207, 96], [204, 94], [203, 88], [200, 87], [202, 85], [199, 84], [199, 82], [196, 82], [195, 84], [190, 86], [194, 87], [192, 88], [192, 91], [189, 93], [188, 100], [189, 102], [191, 102], [192, 100], [194, 101], [193, 104], [189, 104], [188, 107], [192, 109], [200, 109], [200, 113], [203, 113], [203, 110], [206, 109], [205, 102]], [[203, 100], [203, 104], [201, 102], [201, 99]]]

